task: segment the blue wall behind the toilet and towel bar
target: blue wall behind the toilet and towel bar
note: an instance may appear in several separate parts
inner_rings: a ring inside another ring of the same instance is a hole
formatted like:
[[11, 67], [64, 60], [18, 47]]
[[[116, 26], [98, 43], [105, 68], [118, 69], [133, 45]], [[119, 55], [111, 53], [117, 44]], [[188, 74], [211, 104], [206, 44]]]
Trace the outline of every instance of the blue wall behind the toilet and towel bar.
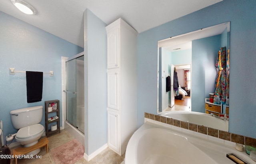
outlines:
[[[12, 126], [11, 110], [44, 106], [44, 101], [55, 99], [60, 100], [61, 108], [61, 56], [70, 57], [83, 50], [0, 12], [0, 120], [3, 120], [4, 138], [18, 131]], [[54, 71], [54, 76], [44, 75], [42, 101], [27, 103], [26, 74], [10, 75], [10, 67], [21, 71]], [[44, 114], [40, 124], [45, 126]]]

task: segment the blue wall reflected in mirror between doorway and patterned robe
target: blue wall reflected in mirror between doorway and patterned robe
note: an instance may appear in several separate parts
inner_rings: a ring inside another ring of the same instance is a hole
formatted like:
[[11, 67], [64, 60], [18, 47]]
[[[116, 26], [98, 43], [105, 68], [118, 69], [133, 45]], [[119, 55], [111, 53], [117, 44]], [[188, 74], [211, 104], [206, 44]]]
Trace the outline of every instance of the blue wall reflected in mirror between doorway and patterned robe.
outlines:
[[205, 98], [214, 93], [220, 35], [192, 41], [191, 110], [205, 112]]

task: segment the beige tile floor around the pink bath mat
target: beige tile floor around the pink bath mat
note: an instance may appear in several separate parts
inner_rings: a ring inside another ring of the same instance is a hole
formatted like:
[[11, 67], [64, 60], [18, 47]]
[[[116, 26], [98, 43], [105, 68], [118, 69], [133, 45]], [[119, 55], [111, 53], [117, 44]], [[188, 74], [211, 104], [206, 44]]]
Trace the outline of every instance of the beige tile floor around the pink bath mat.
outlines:
[[[68, 134], [65, 130], [61, 130], [60, 133], [52, 134], [48, 137], [48, 154], [45, 148], [41, 148], [41, 152], [37, 155], [42, 156], [41, 159], [18, 159], [18, 164], [55, 164], [51, 155], [51, 150], [65, 144], [74, 138]], [[11, 150], [17, 147], [11, 148]], [[92, 160], [87, 162], [84, 158], [78, 160], [75, 164], [120, 164], [124, 160], [124, 155], [119, 156], [109, 148], [106, 148]], [[15, 164], [15, 159], [11, 159], [11, 164]]]

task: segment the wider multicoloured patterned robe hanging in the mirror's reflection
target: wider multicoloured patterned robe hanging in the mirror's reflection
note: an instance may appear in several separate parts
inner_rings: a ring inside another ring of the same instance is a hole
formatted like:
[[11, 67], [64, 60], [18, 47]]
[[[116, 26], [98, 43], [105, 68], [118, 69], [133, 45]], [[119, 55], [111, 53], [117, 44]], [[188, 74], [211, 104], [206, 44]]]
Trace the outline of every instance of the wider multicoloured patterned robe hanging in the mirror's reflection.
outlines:
[[226, 102], [226, 47], [220, 48], [215, 66], [218, 72], [218, 76], [216, 77], [214, 94], [220, 96], [221, 102], [225, 103]]

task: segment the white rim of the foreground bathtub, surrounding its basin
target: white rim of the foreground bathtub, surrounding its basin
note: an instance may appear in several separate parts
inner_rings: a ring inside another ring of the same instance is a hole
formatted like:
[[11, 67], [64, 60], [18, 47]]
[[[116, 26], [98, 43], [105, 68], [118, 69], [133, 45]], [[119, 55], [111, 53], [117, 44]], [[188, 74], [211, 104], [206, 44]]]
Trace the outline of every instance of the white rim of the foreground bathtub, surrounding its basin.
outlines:
[[[163, 128], [172, 131], [173, 133], [177, 135], [184, 136], [188, 139], [190, 143], [192, 143], [194, 146], [202, 150], [205, 154], [207, 154], [210, 158], [212, 158], [216, 163], [218, 164], [234, 164], [230, 159], [226, 157], [226, 154], [234, 153], [243, 160], [249, 162], [250, 164], [255, 163], [253, 160], [250, 159], [248, 154], [246, 152], [239, 152], [235, 149], [235, 143], [234, 146], [231, 146], [230, 144], [220, 144], [219, 142], [215, 142], [212, 140], [208, 140], [206, 138], [201, 138], [198, 136], [194, 136], [188, 133], [184, 133], [181, 131], [174, 130], [172, 128], [168, 128], [166, 126], [161, 126], [159, 124], [154, 124], [152, 122], [145, 122], [130, 138], [127, 148], [126, 148], [126, 158], [125, 163], [126, 164], [138, 164], [136, 161], [134, 161], [134, 158], [132, 152], [134, 152], [134, 145], [132, 145], [132, 142], [135, 142], [138, 144], [137, 138], [139, 138], [142, 134], [140, 134], [143, 130], [146, 130], [148, 128]], [[204, 134], [205, 135], [205, 134]], [[207, 135], [206, 135], [207, 136]], [[132, 150], [132, 151], [130, 151]], [[136, 156], [137, 157], [137, 156]]]

